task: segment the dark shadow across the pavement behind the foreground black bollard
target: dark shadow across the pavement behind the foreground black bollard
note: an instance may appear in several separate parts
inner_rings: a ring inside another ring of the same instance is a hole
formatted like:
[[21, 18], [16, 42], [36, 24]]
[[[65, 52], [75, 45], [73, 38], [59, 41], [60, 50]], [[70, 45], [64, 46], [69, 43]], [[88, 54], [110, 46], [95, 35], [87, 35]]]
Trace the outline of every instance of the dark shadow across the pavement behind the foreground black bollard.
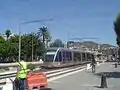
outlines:
[[100, 72], [94, 75], [102, 76], [102, 74], [105, 74], [107, 78], [120, 78], [120, 72]]

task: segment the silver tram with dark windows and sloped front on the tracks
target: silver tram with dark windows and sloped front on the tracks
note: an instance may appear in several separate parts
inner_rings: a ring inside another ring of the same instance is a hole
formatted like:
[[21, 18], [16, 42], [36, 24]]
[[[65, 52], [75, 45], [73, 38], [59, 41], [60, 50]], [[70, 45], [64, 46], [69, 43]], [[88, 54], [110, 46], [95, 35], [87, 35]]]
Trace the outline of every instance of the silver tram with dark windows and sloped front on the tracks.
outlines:
[[64, 67], [91, 62], [94, 54], [82, 50], [67, 48], [49, 48], [47, 50], [44, 67]]

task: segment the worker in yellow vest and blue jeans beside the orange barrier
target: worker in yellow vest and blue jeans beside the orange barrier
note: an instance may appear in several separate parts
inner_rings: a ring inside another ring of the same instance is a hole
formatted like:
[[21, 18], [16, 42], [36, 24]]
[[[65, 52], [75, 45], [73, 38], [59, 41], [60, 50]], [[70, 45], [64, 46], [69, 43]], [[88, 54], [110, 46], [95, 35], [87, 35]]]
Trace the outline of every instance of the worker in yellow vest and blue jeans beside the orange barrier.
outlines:
[[24, 60], [19, 62], [17, 79], [19, 80], [19, 90], [26, 90], [27, 64]]

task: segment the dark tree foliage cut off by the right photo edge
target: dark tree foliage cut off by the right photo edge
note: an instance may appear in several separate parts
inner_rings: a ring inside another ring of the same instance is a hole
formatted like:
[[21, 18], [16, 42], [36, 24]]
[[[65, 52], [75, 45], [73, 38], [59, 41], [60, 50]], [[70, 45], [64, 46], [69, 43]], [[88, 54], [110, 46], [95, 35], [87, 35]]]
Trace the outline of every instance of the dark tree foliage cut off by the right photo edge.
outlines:
[[120, 13], [118, 14], [115, 22], [114, 22], [114, 30], [116, 32], [117, 35], [117, 44], [120, 46]]

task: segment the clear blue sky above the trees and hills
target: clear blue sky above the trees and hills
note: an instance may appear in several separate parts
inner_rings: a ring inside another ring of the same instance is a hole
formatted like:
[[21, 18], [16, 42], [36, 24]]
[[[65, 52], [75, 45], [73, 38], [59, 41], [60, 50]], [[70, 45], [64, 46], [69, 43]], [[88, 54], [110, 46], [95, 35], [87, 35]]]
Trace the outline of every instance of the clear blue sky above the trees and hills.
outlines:
[[115, 44], [113, 21], [120, 12], [120, 0], [1, 0], [0, 32], [9, 28], [18, 33], [22, 21], [52, 18], [53, 21], [27, 24], [23, 33], [37, 32], [47, 26], [53, 39], [99, 38], [100, 43]]

